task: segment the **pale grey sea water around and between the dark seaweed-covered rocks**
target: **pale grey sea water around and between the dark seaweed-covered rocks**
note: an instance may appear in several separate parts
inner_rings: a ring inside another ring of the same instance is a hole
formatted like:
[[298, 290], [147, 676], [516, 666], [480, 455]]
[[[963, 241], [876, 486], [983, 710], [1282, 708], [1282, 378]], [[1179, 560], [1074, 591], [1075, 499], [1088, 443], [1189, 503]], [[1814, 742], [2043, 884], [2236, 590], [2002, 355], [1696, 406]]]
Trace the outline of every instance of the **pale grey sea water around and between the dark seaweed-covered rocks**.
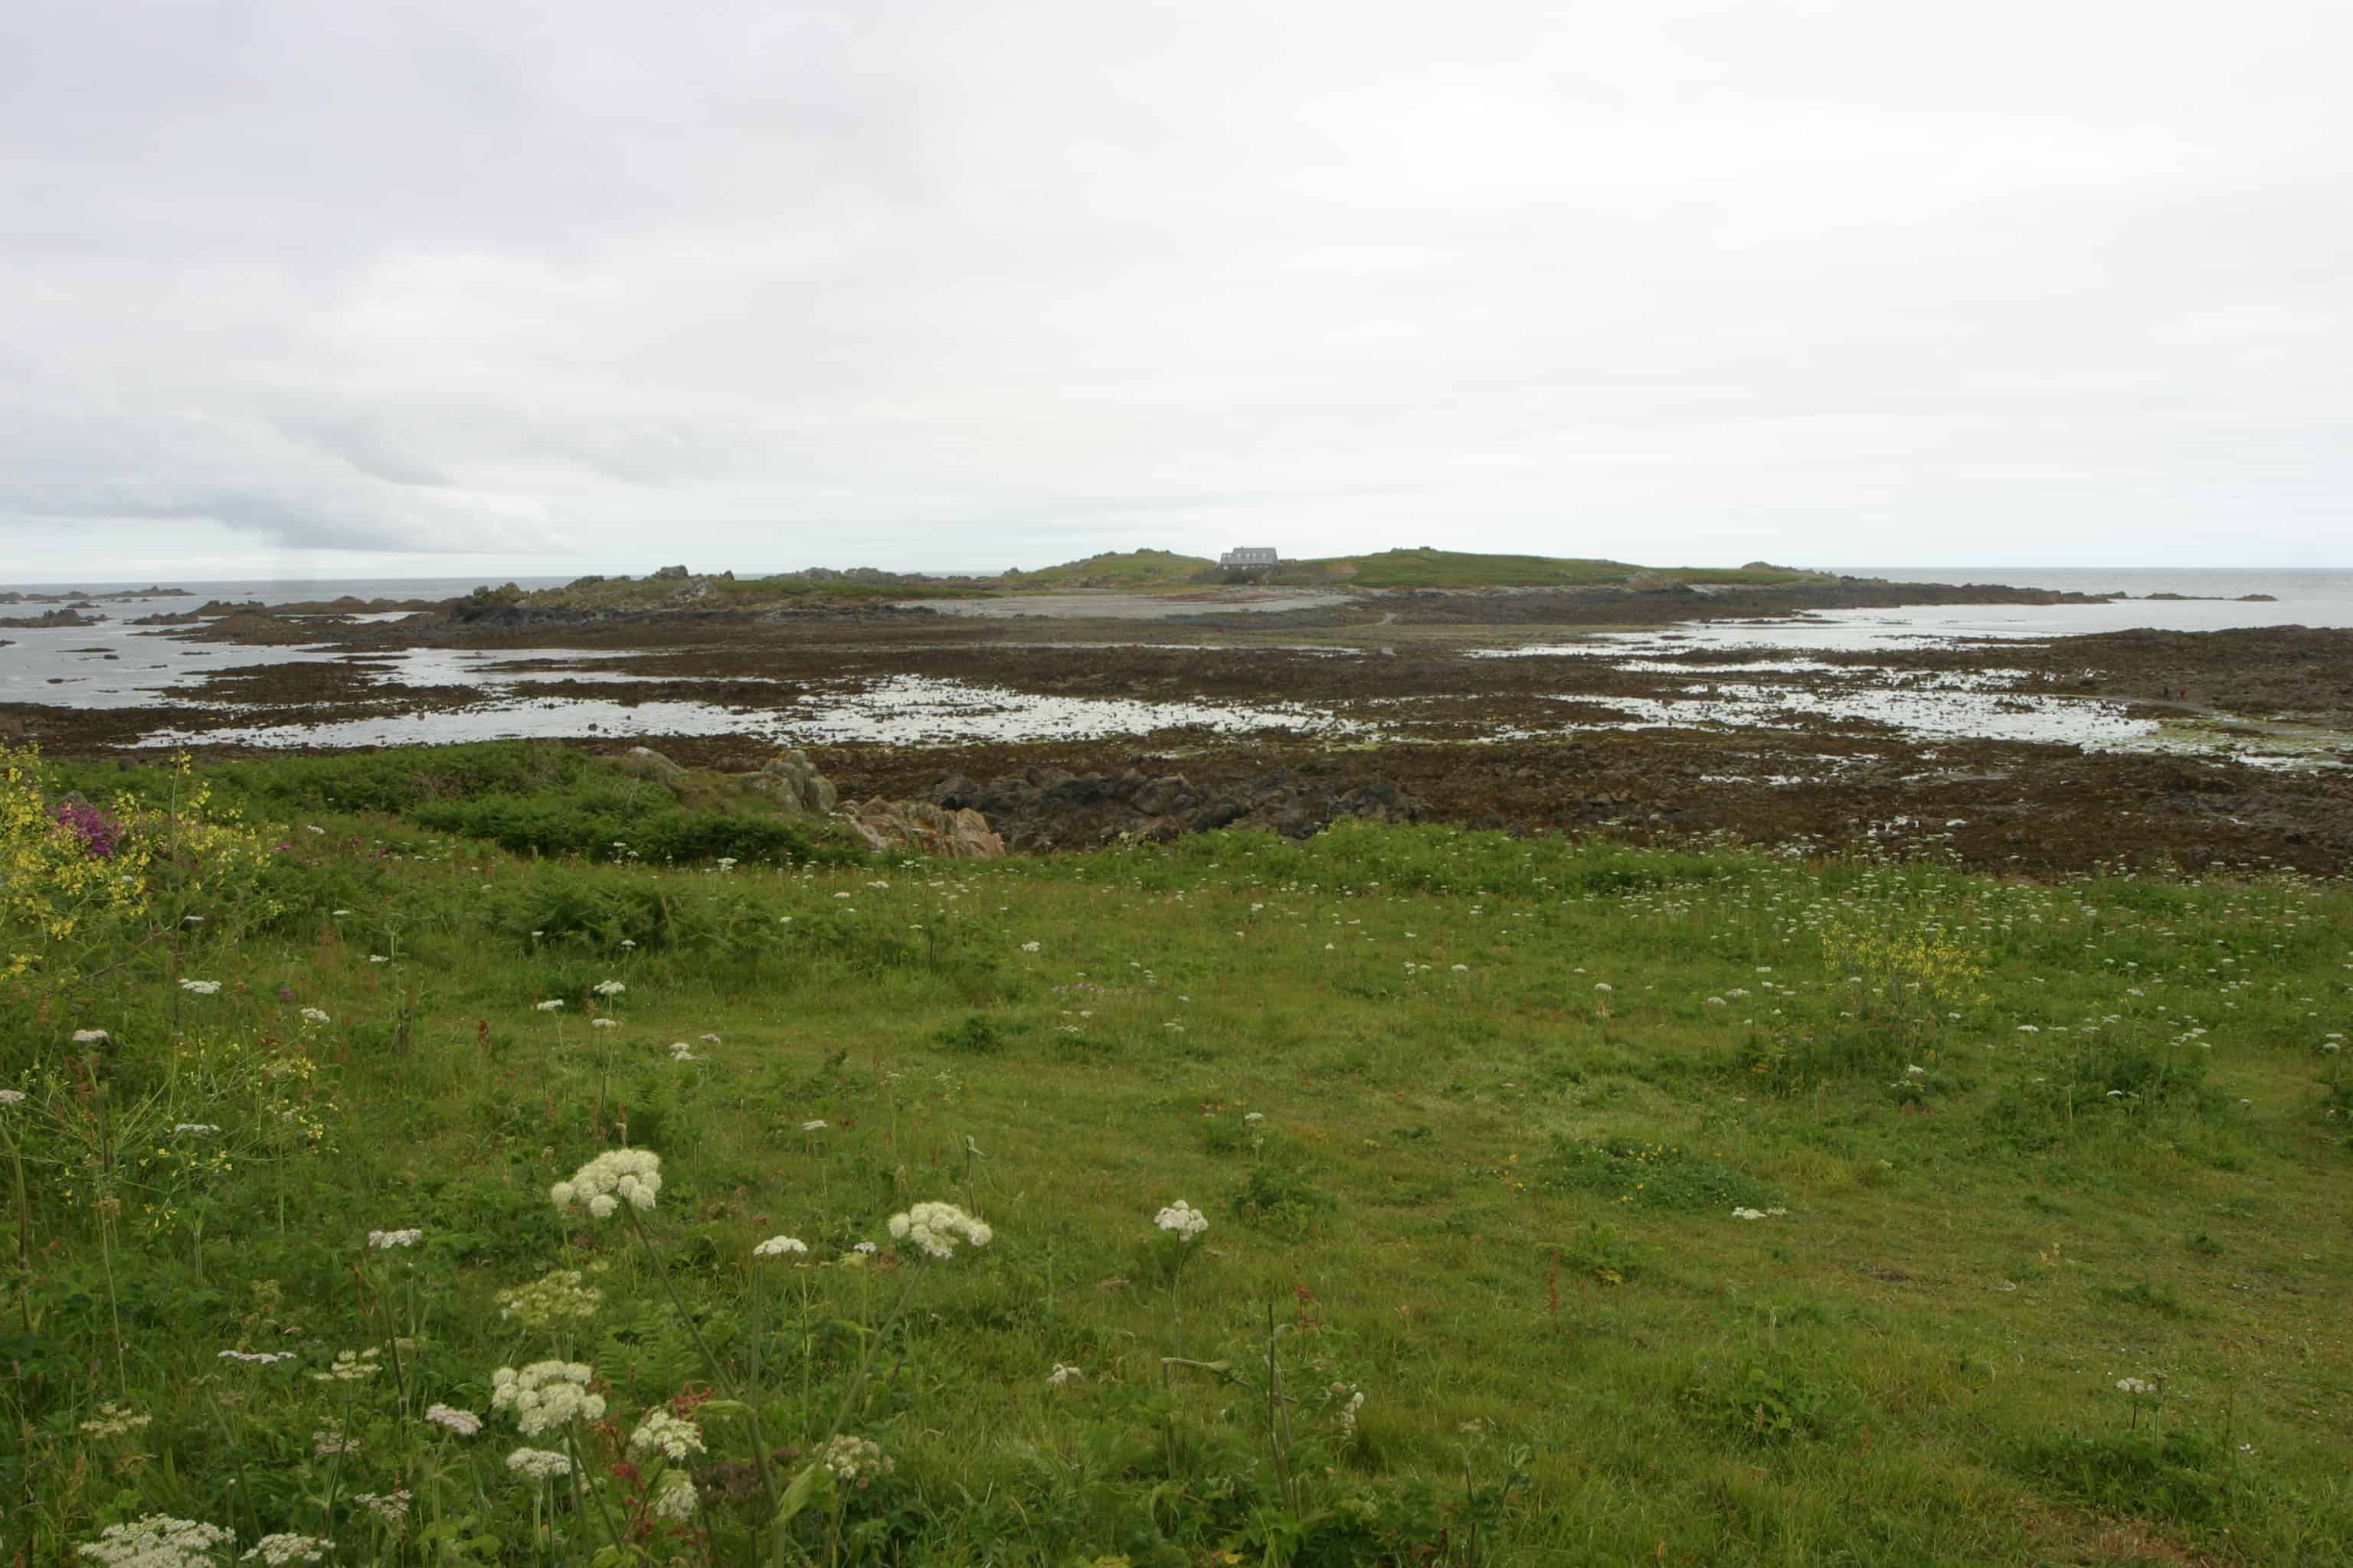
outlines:
[[[2049, 639], [2082, 632], [2118, 632], [2132, 628], [2155, 628], [2177, 632], [2212, 632], [2231, 628], [2308, 625], [2353, 628], [2353, 571], [2346, 569], [2031, 569], [2031, 567], [1845, 567], [1852, 576], [1894, 578], [1913, 583], [2005, 583], [2014, 588], [2052, 588], [2085, 595], [2125, 595], [2099, 604], [1920, 604], [1899, 609], [1835, 609], [1807, 611], [1798, 616], [1758, 621], [1711, 621], [1680, 628], [1654, 628], [1647, 632], [1624, 632], [1581, 639], [1562, 646], [1518, 644], [1497, 654], [1581, 654], [1617, 658], [1628, 668], [1661, 654], [1687, 658], [1694, 649], [1779, 649], [1793, 661], [1788, 668], [1805, 668], [1807, 654], [1831, 649], [1871, 646], [1918, 646], [1932, 642], [2021, 642]], [[522, 588], [562, 585], [569, 578], [518, 578]], [[238, 578], [238, 581], [184, 581], [172, 583], [186, 595], [169, 597], [106, 597], [132, 595], [148, 583], [71, 583], [99, 602], [101, 623], [87, 628], [7, 628], [0, 630], [0, 703], [40, 703], [52, 708], [146, 708], [176, 701], [202, 701], [205, 677], [238, 665], [304, 663], [351, 658], [346, 651], [320, 646], [233, 646], [233, 644], [186, 644], [172, 637], [174, 628], [129, 625], [139, 616], [155, 611], [186, 611], [207, 599], [289, 604], [308, 599], [447, 599], [475, 588], [468, 578]], [[28, 592], [56, 595], [68, 585], [38, 583]], [[2179, 597], [2169, 597], [2179, 595]], [[0, 604], [0, 618], [38, 616], [54, 604]], [[92, 614], [92, 611], [85, 611]], [[376, 616], [369, 616], [376, 618]], [[395, 618], [395, 616], [381, 616]], [[400, 654], [369, 654], [367, 665], [386, 684], [412, 686], [473, 686], [480, 703], [464, 710], [386, 715], [369, 719], [322, 719], [315, 724], [266, 722], [282, 715], [254, 712], [264, 719], [252, 729], [202, 733], [158, 726], [146, 741], [151, 745], [176, 745], [186, 741], [247, 743], [247, 745], [402, 745], [459, 738], [504, 738], [532, 733], [607, 733], [607, 736], [659, 736], [659, 733], [769, 733], [779, 743], [840, 743], [840, 741], [1026, 741], [1026, 738], [1082, 738], [1106, 733], [1144, 733], [1169, 724], [1212, 724], [1219, 729], [1334, 729], [1346, 724], [1334, 715], [1311, 715], [1299, 708], [1240, 710], [1231, 705], [1195, 705], [1186, 712], [1169, 712], [1162, 705], [1139, 705], [1120, 701], [1087, 698], [1040, 698], [969, 686], [965, 682], [929, 682], [922, 689], [901, 684], [847, 682], [842, 691], [812, 691], [781, 708], [729, 710], [696, 701], [612, 701], [598, 703], [579, 696], [544, 696], [536, 691], [546, 682], [546, 665], [565, 661], [565, 649], [532, 649], [525, 654], [473, 651], [473, 649], [409, 649]], [[581, 661], [598, 661], [598, 670], [581, 670], [574, 679], [635, 684], [626, 672], [626, 656], [586, 654]], [[624, 668], [616, 670], [614, 663]], [[1995, 656], [1991, 663], [2000, 663]], [[1748, 663], [1748, 672], [1767, 672], [1769, 665]], [[1715, 679], [1715, 677], [1711, 677]], [[934, 689], [936, 686], [936, 689]], [[1746, 712], [1739, 693], [1711, 689], [1711, 708], [1678, 703], [1673, 712], [1628, 712], [1609, 726], [1706, 722], [1741, 726], [1772, 722], [1772, 715], [1788, 710], [1793, 698], [1786, 691], [1755, 693]], [[1901, 698], [1901, 703], [1897, 703]], [[1809, 698], [1812, 701], [1812, 698]], [[2078, 745], [2146, 745], [2155, 741], [2158, 726], [2148, 719], [2127, 717], [2099, 703], [2054, 701], [2040, 705], [2019, 703], [1998, 693], [1934, 691], [1927, 698], [1915, 693], [1859, 691], [1840, 696], [1852, 705], [1847, 717], [1894, 722], [1899, 729], [1920, 736], [1986, 736], [1986, 738], [2047, 738], [2073, 741]], [[1729, 705], [1727, 705], [1729, 703]], [[1889, 703], [1897, 703], [1894, 708]], [[2033, 708], [2033, 712], [2028, 712]], [[2042, 710], [2049, 712], [2042, 712]], [[1826, 715], [1840, 717], [1840, 715]], [[2024, 731], [2019, 726], [2026, 726]], [[2301, 759], [2311, 748], [2304, 743], [2282, 745], [2282, 762]], [[2247, 757], [2257, 759], [2257, 757]]]

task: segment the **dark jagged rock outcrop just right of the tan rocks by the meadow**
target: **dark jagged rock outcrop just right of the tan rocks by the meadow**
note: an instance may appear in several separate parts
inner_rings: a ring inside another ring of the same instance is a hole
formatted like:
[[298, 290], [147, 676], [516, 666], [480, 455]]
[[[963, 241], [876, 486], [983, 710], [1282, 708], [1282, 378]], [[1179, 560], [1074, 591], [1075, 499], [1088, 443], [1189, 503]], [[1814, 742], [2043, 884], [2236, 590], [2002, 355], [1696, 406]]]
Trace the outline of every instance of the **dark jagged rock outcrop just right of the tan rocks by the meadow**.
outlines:
[[1066, 773], [1028, 769], [979, 785], [939, 778], [925, 797], [948, 811], [979, 811], [1009, 849], [1094, 849], [1120, 837], [1174, 839], [1214, 827], [1264, 827], [1304, 839], [1339, 818], [1414, 823], [1421, 802], [1386, 780], [1339, 788], [1292, 769], [1200, 788], [1184, 773]]

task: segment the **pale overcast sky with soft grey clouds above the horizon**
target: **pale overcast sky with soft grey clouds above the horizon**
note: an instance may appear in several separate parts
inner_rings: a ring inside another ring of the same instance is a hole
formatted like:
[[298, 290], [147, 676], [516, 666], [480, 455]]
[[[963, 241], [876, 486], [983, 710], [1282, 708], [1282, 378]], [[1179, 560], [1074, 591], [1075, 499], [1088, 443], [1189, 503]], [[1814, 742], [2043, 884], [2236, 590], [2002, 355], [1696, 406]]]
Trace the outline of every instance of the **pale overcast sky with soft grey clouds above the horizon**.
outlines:
[[2344, 0], [9, 0], [0, 578], [2353, 564]]

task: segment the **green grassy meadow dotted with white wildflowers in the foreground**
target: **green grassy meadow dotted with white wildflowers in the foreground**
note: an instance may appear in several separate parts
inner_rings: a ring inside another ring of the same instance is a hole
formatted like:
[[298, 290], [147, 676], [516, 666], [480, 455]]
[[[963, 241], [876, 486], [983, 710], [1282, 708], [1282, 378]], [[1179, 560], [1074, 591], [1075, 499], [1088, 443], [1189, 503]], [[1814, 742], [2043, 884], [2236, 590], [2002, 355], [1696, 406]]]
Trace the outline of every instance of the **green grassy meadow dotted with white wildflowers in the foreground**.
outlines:
[[0, 752], [0, 1561], [2353, 1559], [2344, 882], [633, 799]]

